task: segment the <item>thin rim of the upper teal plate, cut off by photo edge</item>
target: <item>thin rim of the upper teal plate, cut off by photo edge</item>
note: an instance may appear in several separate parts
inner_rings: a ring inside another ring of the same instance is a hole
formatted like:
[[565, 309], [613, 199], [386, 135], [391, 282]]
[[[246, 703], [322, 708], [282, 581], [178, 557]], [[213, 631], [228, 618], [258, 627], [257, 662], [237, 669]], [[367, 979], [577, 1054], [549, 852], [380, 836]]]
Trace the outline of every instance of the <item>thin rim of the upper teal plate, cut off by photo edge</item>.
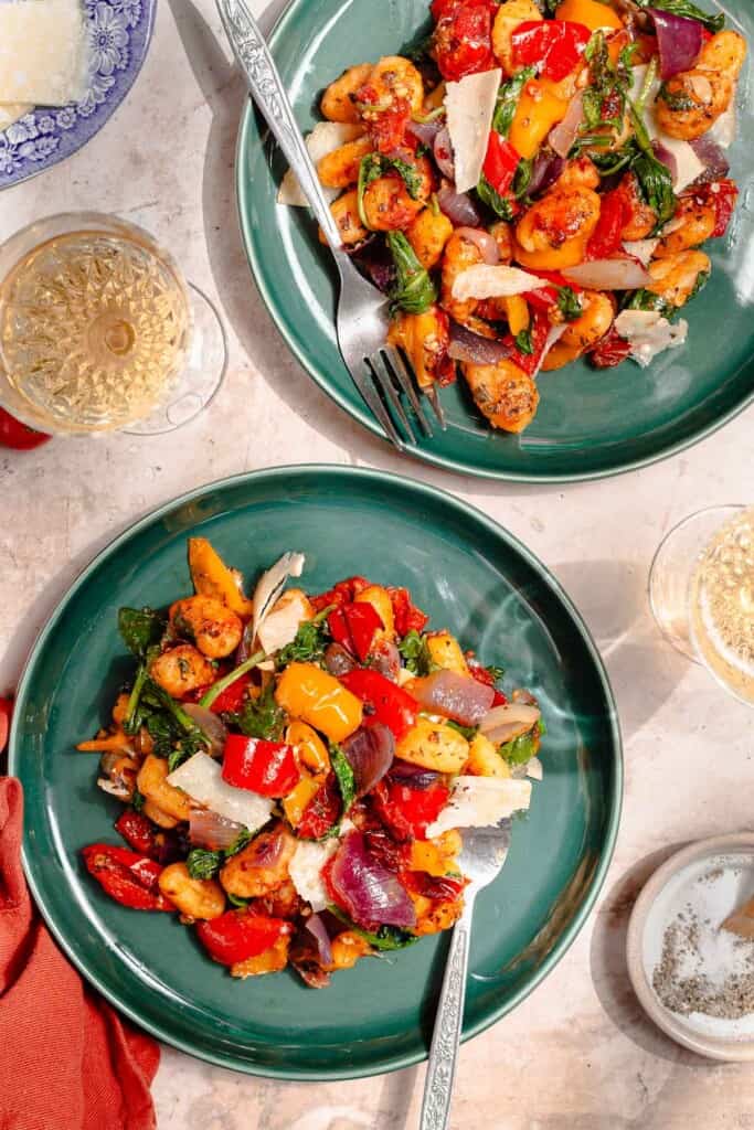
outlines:
[[[278, 42], [280, 37], [285, 34], [287, 25], [289, 21], [294, 20], [298, 15], [298, 9], [305, 0], [292, 0], [292, 2], [285, 8], [280, 14], [278, 19], [272, 27], [272, 31], [267, 36], [267, 43], [275, 55]], [[321, 372], [318, 366], [309, 360], [306, 351], [300, 347], [294, 338], [293, 331], [289, 331], [286, 323], [280, 320], [277, 315], [275, 302], [270, 289], [267, 286], [265, 273], [262, 270], [262, 255], [259, 252], [255, 240], [253, 225], [249, 219], [249, 207], [248, 201], [250, 199], [250, 193], [253, 186], [250, 183], [249, 177], [243, 175], [244, 173], [244, 162], [243, 155], [249, 153], [249, 131], [251, 129], [251, 123], [254, 116], [255, 110], [251, 97], [246, 98], [243, 114], [241, 116], [241, 122], [239, 124], [239, 133], [236, 138], [235, 146], [235, 168], [233, 179], [235, 182], [235, 203], [236, 203], [236, 215], [239, 218], [239, 226], [241, 228], [241, 242], [243, 243], [244, 253], [251, 269], [251, 273], [257, 286], [257, 289], [265, 303], [265, 307], [270, 315], [270, 319], [280, 334], [286, 346], [296, 358], [302, 368], [307, 373], [307, 375], [314, 381], [319, 389], [335, 403], [343, 409], [353, 420], [366, 427], [372, 435], [381, 440], [390, 450], [392, 445], [390, 441], [384, 435], [384, 432], [380, 427], [379, 423], [369, 412], [365, 406], [357, 403], [352, 405], [346, 397], [337, 389], [331, 382], [328, 374]], [[278, 225], [275, 223], [274, 228]], [[754, 366], [754, 357], [749, 358], [749, 365]], [[541, 475], [535, 472], [526, 471], [514, 471], [514, 470], [493, 470], [476, 467], [474, 464], [463, 462], [462, 460], [451, 459], [447, 455], [436, 454], [432, 451], [425, 451], [421, 444], [404, 443], [402, 451], [410, 458], [417, 459], [421, 462], [430, 463], [433, 467], [439, 467], [445, 471], [452, 471], [454, 473], [470, 475], [474, 478], [487, 479], [492, 481], [504, 481], [504, 483], [592, 483], [599, 479], [614, 478], [618, 475], [626, 475], [630, 471], [640, 470], [643, 467], [651, 467], [655, 463], [662, 462], [666, 459], [671, 459], [674, 455], [678, 455], [690, 447], [695, 446], [703, 440], [709, 438], [709, 436], [714, 435], [716, 432], [723, 428], [727, 424], [734, 420], [737, 416], [740, 416], [749, 405], [754, 403], [754, 382], [752, 389], [747, 395], [730, 409], [723, 412], [720, 417], [714, 419], [711, 424], [701, 425], [699, 428], [692, 431], [690, 435], [684, 438], [677, 440], [675, 443], [668, 446], [661, 447], [660, 451], [653, 452], [652, 454], [643, 455], [636, 459], [629, 459], [616, 466], [608, 467], [603, 470], [596, 471], [570, 471], [567, 473], [554, 473], [554, 472], [543, 472]]]

